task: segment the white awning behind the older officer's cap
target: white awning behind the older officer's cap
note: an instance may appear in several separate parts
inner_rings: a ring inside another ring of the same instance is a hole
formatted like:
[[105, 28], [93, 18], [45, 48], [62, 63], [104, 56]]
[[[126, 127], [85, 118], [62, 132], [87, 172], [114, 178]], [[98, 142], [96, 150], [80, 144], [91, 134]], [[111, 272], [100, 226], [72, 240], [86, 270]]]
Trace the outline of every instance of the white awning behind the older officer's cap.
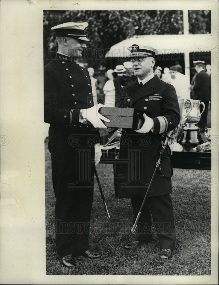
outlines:
[[211, 34], [198, 35], [142, 35], [133, 36], [111, 46], [107, 58], [126, 58], [130, 55], [129, 46], [149, 45], [158, 50], [158, 54], [179, 54], [185, 52], [207, 52], [215, 46]]

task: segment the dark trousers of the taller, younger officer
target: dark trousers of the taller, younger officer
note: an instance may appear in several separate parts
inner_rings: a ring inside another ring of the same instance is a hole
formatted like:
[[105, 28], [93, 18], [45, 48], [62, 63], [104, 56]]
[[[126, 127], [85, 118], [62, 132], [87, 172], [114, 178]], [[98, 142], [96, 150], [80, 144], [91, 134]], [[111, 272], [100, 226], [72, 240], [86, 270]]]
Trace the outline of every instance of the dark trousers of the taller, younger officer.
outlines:
[[[56, 197], [56, 249], [61, 257], [70, 253], [81, 255], [89, 249], [94, 149], [76, 148], [77, 146], [49, 142]], [[75, 160], [78, 160], [81, 168], [76, 167], [73, 163]], [[87, 173], [89, 175], [86, 175]]]

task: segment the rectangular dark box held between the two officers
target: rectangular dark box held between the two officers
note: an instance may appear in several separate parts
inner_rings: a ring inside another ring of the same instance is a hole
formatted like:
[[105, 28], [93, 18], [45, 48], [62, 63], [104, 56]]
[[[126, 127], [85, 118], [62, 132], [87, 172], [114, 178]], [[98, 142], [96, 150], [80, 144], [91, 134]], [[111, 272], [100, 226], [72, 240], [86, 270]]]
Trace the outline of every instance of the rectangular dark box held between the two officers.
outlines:
[[143, 113], [150, 117], [149, 113], [134, 108], [101, 107], [99, 113], [110, 120], [109, 123], [103, 121], [107, 127], [119, 129], [139, 130], [144, 123]]

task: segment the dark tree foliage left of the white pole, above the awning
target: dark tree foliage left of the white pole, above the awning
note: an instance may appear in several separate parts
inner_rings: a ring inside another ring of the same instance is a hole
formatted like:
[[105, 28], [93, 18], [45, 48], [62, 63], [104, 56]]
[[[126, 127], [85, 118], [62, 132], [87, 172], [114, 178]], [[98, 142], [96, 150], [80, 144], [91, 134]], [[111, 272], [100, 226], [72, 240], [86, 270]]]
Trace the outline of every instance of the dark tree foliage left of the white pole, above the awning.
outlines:
[[[182, 11], [44, 11], [44, 58], [56, 50], [51, 27], [65, 22], [88, 22], [88, 47], [104, 50], [134, 35], [182, 34]], [[46, 63], [46, 62], [45, 62]]]

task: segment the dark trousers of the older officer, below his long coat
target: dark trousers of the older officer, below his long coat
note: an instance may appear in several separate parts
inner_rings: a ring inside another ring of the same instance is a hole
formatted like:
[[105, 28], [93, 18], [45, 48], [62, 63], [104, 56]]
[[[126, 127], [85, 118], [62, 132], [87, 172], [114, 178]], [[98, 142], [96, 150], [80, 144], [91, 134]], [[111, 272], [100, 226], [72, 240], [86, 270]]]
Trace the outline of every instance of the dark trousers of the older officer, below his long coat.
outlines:
[[[144, 197], [132, 197], [133, 216], [135, 219], [141, 207]], [[150, 214], [151, 210], [151, 214]], [[148, 197], [141, 211], [137, 223], [137, 233], [135, 241], [148, 242], [152, 239], [152, 222], [157, 233], [159, 245], [161, 248], [174, 249], [175, 229], [172, 200], [170, 194]]]

